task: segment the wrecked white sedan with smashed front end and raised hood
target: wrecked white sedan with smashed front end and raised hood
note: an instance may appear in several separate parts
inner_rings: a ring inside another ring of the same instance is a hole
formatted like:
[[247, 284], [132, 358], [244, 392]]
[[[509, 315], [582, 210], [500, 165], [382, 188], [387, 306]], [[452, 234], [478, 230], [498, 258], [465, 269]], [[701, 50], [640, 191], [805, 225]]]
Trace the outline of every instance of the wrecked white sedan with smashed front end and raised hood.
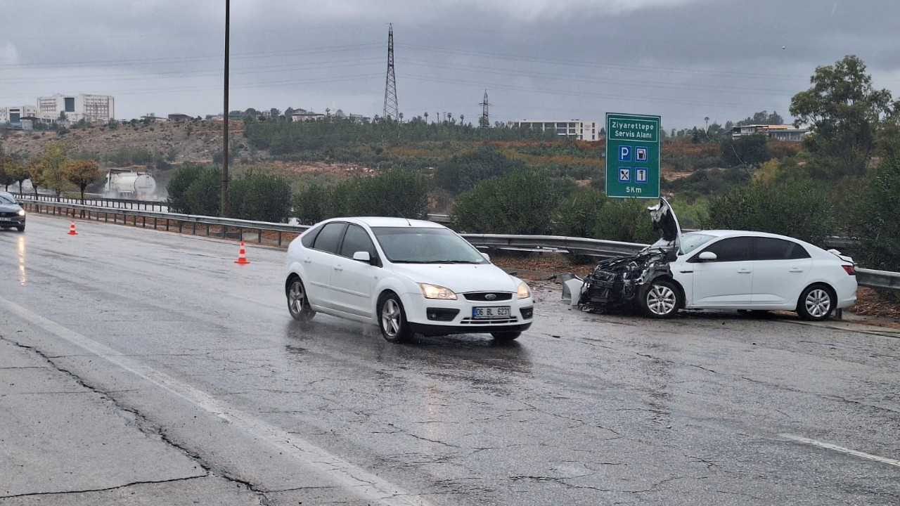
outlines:
[[682, 234], [665, 199], [648, 210], [662, 239], [636, 255], [600, 262], [584, 279], [581, 309], [636, 304], [651, 318], [680, 309], [781, 310], [819, 321], [856, 302], [853, 260], [838, 251], [765, 232]]

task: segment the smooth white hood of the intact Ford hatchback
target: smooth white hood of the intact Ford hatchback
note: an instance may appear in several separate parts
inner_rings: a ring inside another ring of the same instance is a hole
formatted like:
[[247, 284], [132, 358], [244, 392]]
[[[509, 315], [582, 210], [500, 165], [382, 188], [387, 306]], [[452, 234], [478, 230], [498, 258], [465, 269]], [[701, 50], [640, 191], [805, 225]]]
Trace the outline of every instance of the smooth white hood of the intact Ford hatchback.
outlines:
[[393, 264], [395, 273], [415, 283], [444, 286], [466, 292], [516, 292], [518, 279], [493, 264]]

